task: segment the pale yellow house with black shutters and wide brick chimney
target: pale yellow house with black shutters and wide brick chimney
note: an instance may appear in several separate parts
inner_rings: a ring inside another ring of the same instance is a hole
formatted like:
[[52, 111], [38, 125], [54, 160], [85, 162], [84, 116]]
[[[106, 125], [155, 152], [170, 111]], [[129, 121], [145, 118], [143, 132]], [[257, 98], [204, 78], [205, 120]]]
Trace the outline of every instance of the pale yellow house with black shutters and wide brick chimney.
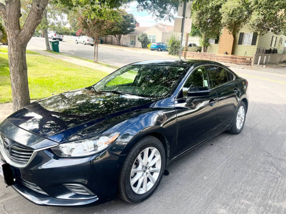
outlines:
[[211, 45], [207, 52], [247, 57], [253, 57], [255, 54], [272, 54], [273, 50], [274, 53], [283, 54], [285, 42], [286, 36], [284, 35], [276, 35], [270, 31], [264, 35], [257, 35], [245, 25], [235, 36], [223, 29], [218, 39], [209, 40]]

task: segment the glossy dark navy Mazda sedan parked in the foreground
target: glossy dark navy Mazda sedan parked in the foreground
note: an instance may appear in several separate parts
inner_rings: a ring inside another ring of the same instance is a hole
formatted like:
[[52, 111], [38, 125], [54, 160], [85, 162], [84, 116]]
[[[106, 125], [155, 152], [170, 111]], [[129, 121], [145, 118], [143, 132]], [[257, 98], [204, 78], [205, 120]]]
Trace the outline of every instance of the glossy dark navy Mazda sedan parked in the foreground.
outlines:
[[[248, 82], [202, 60], [126, 65], [96, 84], [35, 101], [0, 125], [0, 173], [35, 204], [136, 203], [173, 160], [242, 131]], [[4, 186], [2, 187], [4, 188]]]

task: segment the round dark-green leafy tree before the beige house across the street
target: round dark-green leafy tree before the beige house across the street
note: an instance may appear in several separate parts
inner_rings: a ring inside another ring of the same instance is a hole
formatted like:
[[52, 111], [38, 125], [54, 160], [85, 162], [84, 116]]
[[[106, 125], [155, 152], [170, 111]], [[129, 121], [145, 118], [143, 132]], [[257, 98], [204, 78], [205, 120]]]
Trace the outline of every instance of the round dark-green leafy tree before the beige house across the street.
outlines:
[[120, 45], [122, 35], [133, 32], [137, 22], [133, 14], [129, 14], [123, 9], [118, 9], [118, 14], [120, 19], [113, 24], [112, 28], [108, 31], [108, 34], [114, 35], [117, 44]]

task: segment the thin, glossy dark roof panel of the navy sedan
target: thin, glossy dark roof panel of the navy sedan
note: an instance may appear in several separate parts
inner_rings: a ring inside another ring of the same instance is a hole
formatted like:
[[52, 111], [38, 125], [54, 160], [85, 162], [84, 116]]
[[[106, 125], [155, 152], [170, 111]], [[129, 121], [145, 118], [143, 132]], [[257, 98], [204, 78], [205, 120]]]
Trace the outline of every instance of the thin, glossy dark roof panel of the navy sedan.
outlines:
[[213, 64], [213, 65], [220, 65], [223, 66], [221, 63], [217, 63], [214, 61], [210, 60], [150, 60], [150, 61], [144, 61], [144, 62], [137, 62], [137, 63], [132, 63], [133, 65], [147, 65], [147, 64], [152, 64], [152, 65], [175, 65], [175, 66], [182, 66], [182, 67], [189, 67], [195, 63], [198, 64]]

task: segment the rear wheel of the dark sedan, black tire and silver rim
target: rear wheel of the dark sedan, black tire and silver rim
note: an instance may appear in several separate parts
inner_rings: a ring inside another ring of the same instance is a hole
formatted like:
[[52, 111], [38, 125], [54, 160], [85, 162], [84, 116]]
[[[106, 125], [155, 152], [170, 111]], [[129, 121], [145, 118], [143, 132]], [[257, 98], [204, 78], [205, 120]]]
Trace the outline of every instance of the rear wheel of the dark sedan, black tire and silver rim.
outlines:
[[[246, 107], [243, 101], [240, 102], [237, 110], [235, 111], [234, 118], [232, 121], [232, 126], [228, 130], [231, 134], [239, 134], [244, 126], [245, 123], [245, 116], [246, 116]], [[243, 121], [242, 121], [243, 118]]]

